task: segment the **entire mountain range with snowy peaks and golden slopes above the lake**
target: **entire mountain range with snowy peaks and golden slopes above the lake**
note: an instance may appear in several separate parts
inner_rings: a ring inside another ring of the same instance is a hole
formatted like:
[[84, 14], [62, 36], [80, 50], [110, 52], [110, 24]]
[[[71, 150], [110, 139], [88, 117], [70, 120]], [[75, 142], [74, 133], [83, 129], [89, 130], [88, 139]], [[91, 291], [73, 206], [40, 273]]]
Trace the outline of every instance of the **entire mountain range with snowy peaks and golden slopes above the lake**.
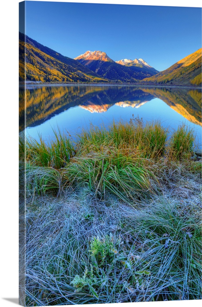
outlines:
[[19, 80], [200, 86], [201, 49], [158, 72], [141, 58], [115, 62], [102, 51], [86, 51], [72, 59], [19, 33]]

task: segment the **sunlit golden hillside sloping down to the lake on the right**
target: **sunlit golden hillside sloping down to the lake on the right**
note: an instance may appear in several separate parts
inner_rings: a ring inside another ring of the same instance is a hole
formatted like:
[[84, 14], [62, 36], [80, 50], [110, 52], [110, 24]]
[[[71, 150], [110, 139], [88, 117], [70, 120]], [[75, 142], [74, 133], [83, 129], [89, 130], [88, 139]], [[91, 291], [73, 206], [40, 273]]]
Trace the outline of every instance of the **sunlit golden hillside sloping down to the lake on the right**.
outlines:
[[144, 79], [145, 84], [201, 86], [201, 49], [173, 64], [157, 75]]

